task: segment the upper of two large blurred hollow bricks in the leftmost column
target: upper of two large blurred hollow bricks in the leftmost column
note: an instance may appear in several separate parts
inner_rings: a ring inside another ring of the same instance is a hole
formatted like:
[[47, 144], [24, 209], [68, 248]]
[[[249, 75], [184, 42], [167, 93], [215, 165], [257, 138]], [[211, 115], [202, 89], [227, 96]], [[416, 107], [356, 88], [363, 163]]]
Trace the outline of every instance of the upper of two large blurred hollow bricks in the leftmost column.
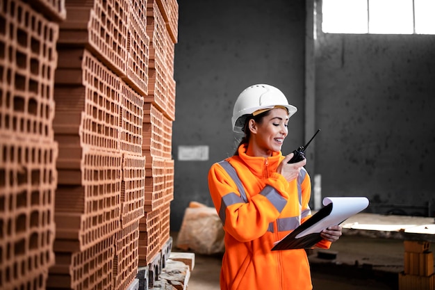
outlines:
[[39, 141], [53, 140], [54, 71], [58, 24], [22, 1], [5, 0], [0, 7], [0, 134]]

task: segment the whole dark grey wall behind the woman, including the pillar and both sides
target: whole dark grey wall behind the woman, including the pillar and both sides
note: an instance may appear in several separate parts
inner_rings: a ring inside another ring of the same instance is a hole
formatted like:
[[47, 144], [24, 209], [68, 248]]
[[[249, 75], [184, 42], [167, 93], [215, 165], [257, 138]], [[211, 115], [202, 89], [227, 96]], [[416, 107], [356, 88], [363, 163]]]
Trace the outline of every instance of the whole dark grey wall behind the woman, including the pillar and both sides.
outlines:
[[[434, 216], [435, 35], [322, 33], [320, 1], [178, 2], [173, 231], [189, 202], [213, 206], [208, 169], [233, 154], [233, 102], [254, 83], [280, 88], [298, 108], [284, 154], [322, 130], [306, 152], [322, 197]], [[208, 158], [180, 160], [186, 147]]]

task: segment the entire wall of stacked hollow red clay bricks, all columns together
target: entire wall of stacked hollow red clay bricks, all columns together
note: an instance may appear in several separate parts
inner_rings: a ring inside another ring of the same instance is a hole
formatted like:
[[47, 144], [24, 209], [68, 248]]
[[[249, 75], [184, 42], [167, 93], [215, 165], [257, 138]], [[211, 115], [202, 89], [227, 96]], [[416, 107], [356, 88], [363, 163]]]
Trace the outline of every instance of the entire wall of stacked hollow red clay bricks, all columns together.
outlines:
[[0, 289], [158, 277], [177, 24], [177, 0], [0, 1]]

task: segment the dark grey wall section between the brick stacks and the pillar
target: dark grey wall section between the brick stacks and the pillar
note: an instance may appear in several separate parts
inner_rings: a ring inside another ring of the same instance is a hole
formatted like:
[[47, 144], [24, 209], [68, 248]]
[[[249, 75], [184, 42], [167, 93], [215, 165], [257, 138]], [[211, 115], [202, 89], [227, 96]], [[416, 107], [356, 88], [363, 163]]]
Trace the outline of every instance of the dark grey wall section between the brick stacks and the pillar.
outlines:
[[[231, 131], [238, 94], [255, 83], [280, 88], [302, 108], [293, 116], [284, 150], [293, 151], [304, 132], [305, 3], [179, 0], [179, 42], [172, 150], [175, 160], [171, 228], [179, 229], [190, 201], [213, 206], [210, 166], [236, 149]], [[180, 145], [208, 145], [208, 161], [179, 161]]]

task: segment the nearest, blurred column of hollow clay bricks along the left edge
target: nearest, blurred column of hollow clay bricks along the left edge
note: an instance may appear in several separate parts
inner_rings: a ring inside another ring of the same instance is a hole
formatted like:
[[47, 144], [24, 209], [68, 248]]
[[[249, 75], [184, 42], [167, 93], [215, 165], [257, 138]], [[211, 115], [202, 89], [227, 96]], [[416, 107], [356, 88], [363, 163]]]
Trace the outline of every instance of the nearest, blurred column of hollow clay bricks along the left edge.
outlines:
[[54, 72], [61, 1], [0, 1], [0, 289], [45, 289], [54, 264]]

